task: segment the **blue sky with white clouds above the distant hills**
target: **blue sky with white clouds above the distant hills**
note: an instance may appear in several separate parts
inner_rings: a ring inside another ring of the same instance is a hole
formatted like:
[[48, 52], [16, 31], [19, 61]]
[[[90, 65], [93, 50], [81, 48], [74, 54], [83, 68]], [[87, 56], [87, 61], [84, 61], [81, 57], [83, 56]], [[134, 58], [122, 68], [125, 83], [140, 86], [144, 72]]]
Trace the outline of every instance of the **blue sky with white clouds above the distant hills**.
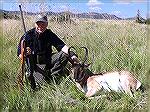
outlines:
[[0, 9], [28, 12], [71, 11], [73, 13], [97, 12], [114, 14], [121, 18], [135, 17], [137, 11], [143, 18], [150, 17], [150, 0], [1, 0]]

